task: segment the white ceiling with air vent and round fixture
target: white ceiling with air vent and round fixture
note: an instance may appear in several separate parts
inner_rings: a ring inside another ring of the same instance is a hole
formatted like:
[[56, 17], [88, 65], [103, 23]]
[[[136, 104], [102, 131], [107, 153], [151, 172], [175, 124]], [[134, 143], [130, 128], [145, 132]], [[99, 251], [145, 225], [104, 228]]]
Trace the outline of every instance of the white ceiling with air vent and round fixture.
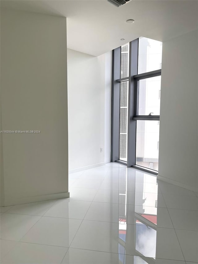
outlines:
[[120, 7], [107, 0], [5, 0], [1, 7], [67, 17], [67, 47], [94, 56], [140, 36], [166, 41], [198, 28], [198, 1], [191, 0], [132, 0]]

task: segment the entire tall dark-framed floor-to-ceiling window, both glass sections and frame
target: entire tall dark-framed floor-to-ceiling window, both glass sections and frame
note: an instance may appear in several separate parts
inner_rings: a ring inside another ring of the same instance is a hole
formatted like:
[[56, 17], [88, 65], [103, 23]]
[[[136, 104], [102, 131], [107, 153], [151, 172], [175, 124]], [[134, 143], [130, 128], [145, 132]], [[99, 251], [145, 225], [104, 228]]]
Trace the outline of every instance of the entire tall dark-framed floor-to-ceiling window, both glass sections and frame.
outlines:
[[112, 161], [158, 171], [161, 54], [162, 42], [145, 37], [113, 52]]

